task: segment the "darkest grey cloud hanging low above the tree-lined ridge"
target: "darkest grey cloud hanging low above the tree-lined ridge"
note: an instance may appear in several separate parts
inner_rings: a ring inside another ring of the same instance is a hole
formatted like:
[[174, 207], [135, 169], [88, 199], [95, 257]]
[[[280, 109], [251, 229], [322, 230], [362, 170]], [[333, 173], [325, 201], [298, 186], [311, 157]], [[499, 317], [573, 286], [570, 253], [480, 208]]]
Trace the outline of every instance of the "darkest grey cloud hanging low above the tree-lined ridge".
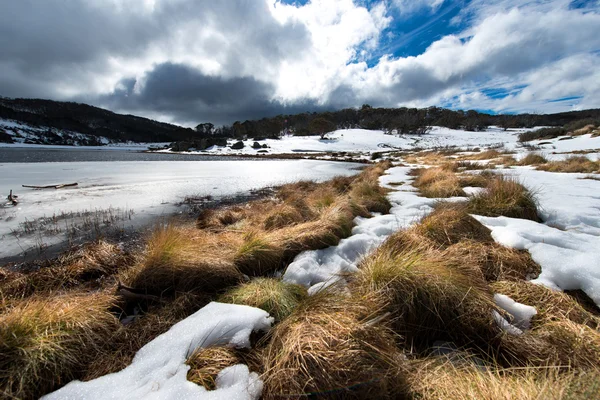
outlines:
[[168, 110], [175, 120], [189, 124], [203, 121], [225, 124], [325, 109], [311, 100], [289, 105], [271, 101], [273, 85], [253, 77], [225, 79], [182, 64], [157, 65], [146, 75], [139, 90], [134, 90], [135, 84], [135, 79], [123, 80], [111, 95], [92, 100], [133, 113], [158, 114]]

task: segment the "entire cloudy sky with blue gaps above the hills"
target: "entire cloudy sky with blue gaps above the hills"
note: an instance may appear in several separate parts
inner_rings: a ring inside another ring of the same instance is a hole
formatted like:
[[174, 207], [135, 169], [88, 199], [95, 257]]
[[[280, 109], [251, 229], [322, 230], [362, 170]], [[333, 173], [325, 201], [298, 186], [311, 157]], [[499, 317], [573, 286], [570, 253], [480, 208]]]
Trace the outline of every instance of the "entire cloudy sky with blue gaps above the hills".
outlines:
[[0, 0], [0, 95], [183, 125], [600, 107], [600, 0]]

